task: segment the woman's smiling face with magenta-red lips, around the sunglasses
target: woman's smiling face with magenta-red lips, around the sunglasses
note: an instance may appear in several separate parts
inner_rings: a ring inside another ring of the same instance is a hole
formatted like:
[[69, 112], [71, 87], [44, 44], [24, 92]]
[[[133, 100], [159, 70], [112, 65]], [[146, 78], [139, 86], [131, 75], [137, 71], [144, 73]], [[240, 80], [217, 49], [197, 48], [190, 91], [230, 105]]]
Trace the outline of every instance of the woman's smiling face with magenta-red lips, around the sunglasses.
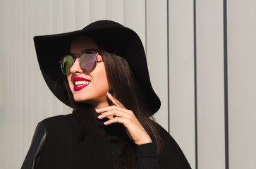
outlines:
[[[70, 54], [80, 55], [88, 49], [99, 51], [92, 39], [80, 36], [71, 43]], [[98, 55], [97, 61], [102, 60], [102, 56]], [[94, 108], [108, 106], [106, 92], [109, 91], [109, 83], [106, 78], [106, 70], [103, 62], [97, 62], [92, 70], [83, 71], [80, 68], [78, 59], [76, 59], [71, 67], [71, 73], [67, 75], [67, 78], [75, 101], [90, 104]], [[83, 82], [83, 84], [79, 84], [80, 82]]]

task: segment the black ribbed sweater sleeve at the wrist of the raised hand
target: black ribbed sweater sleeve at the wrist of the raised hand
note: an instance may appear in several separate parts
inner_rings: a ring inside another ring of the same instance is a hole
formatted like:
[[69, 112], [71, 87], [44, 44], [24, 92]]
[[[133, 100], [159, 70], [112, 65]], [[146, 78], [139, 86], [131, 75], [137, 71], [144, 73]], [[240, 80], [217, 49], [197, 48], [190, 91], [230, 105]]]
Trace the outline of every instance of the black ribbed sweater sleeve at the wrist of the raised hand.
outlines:
[[153, 143], [141, 144], [136, 147], [138, 169], [159, 169], [159, 158]]

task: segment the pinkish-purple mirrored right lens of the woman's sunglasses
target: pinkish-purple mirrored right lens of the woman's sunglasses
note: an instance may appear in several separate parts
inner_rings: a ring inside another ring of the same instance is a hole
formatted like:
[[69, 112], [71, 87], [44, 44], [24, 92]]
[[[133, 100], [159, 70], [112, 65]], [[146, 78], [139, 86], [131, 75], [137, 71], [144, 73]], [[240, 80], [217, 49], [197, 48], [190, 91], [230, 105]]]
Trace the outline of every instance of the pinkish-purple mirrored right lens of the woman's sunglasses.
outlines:
[[96, 54], [88, 53], [80, 56], [80, 68], [84, 71], [91, 70], [95, 65]]

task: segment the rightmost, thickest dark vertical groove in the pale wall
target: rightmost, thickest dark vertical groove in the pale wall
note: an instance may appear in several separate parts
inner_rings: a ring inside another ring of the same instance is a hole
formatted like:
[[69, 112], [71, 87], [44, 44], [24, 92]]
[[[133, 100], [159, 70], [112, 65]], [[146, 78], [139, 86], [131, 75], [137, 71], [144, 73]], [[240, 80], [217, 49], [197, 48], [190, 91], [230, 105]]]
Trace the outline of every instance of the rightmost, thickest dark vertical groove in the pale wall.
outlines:
[[228, 154], [228, 37], [227, 37], [227, 16], [226, 0], [223, 1], [223, 25], [224, 25], [224, 120], [225, 120], [225, 168], [229, 168]]

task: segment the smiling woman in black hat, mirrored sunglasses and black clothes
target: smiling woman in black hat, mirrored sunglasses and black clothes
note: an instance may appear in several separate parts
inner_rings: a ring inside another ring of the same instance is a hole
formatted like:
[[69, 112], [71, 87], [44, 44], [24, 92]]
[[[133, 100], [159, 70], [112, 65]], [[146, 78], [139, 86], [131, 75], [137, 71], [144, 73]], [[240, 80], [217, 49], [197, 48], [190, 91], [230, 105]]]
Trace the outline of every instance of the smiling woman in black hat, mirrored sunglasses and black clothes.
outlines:
[[73, 113], [37, 125], [22, 168], [190, 168], [150, 119], [160, 101], [133, 30], [100, 20], [34, 40], [44, 80]]

